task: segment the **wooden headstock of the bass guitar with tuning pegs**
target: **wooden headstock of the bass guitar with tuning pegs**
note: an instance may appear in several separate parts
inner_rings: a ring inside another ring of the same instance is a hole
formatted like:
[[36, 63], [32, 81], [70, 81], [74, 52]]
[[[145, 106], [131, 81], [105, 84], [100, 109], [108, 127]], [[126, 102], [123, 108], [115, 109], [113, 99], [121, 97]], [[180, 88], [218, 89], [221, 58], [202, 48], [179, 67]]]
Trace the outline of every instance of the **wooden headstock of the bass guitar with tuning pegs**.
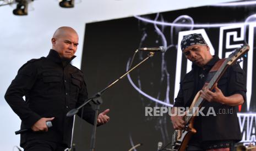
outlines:
[[241, 48], [235, 49], [235, 51], [228, 56], [227, 65], [232, 65], [233, 63], [235, 63], [240, 57], [242, 57], [244, 54], [246, 54], [247, 51], [249, 51], [249, 49], [250, 49], [250, 47], [248, 44], [244, 44], [241, 46]]

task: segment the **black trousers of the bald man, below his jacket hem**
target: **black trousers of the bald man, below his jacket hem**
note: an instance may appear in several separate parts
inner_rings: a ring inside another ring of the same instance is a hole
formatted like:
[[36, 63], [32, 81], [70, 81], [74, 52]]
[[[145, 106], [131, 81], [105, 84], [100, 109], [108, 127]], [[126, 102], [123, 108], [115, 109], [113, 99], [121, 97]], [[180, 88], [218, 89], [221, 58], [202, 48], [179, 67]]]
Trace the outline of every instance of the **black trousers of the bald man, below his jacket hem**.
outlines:
[[66, 144], [45, 140], [31, 140], [26, 142], [24, 151], [64, 151], [67, 148]]

